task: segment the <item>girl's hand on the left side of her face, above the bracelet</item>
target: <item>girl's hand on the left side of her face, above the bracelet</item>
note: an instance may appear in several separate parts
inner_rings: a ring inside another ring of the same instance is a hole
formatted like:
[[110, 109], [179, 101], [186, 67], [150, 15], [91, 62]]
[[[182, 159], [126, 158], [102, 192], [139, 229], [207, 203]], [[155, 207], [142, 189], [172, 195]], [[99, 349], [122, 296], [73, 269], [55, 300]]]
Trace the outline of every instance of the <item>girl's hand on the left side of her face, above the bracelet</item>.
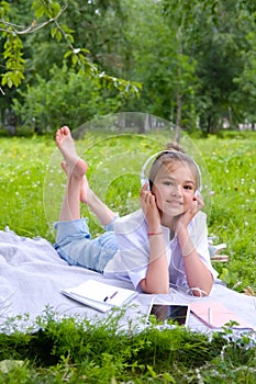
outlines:
[[152, 191], [148, 191], [146, 182], [141, 190], [141, 207], [146, 217], [148, 230], [157, 231], [160, 227], [160, 215], [156, 205], [156, 199]]

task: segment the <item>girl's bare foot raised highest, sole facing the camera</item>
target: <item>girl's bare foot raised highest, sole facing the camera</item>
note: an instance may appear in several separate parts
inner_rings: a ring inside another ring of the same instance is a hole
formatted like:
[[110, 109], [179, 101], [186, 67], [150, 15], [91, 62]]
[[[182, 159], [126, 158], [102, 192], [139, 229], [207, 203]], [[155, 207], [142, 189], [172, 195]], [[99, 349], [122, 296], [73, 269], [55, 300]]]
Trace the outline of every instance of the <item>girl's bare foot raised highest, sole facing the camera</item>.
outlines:
[[88, 166], [77, 155], [70, 129], [67, 126], [63, 126], [56, 132], [55, 142], [66, 162], [66, 169], [63, 167], [65, 172], [68, 176], [84, 177]]

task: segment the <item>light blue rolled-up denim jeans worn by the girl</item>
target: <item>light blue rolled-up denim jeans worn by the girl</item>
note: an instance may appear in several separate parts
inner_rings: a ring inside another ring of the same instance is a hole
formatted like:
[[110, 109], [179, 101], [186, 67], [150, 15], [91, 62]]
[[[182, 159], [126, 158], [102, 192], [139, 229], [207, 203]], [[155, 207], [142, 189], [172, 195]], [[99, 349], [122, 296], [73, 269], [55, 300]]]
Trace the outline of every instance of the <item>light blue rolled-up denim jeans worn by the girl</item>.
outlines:
[[55, 223], [57, 229], [54, 248], [70, 266], [80, 266], [103, 273], [105, 264], [118, 251], [113, 223], [105, 233], [91, 239], [87, 218]]

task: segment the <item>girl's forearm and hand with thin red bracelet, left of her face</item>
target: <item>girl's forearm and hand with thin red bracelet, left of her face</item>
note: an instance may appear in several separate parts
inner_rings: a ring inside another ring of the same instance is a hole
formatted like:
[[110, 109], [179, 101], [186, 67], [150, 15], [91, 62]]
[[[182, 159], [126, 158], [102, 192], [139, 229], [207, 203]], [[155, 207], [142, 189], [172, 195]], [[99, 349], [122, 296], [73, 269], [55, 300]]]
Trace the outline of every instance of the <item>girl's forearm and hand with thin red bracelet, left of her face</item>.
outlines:
[[146, 293], [169, 293], [169, 270], [160, 216], [155, 196], [145, 185], [141, 193], [141, 205], [148, 225], [149, 261], [146, 278], [140, 285]]

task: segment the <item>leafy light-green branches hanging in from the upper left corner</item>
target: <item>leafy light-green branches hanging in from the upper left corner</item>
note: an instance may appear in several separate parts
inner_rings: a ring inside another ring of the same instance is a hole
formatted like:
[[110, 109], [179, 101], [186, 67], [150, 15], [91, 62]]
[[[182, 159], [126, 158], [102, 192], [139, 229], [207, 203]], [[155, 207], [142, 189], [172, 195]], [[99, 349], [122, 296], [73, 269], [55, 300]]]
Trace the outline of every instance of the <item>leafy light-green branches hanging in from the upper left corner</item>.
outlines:
[[[84, 4], [87, 5], [87, 10], [90, 9], [96, 18], [97, 11], [107, 12], [110, 8], [113, 9], [114, 1], [101, 1], [99, 4], [97, 1], [84, 1]], [[27, 14], [29, 5], [32, 5], [30, 14]], [[92, 10], [91, 5], [93, 5]], [[78, 12], [76, 8], [77, 2], [74, 0], [66, 4], [56, 0], [34, 0], [32, 2], [30, 0], [19, 0], [14, 4], [5, 1], [0, 2], [0, 43], [3, 48], [0, 89], [2, 94], [7, 93], [7, 90], [10, 88], [22, 87], [24, 78], [26, 82], [36, 82], [38, 77], [34, 76], [34, 74], [37, 72], [38, 68], [45, 71], [47, 61], [49, 66], [53, 66], [56, 63], [54, 59], [58, 59], [58, 67], [62, 68], [64, 59], [79, 76], [84, 75], [85, 77], [97, 79], [98, 84], [102, 88], [110, 91], [116, 90], [123, 95], [137, 95], [141, 89], [140, 83], [121, 79], [109, 75], [105, 70], [99, 69], [98, 63], [93, 61], [97, 57], [97, 52], [92, 55], [85, 46], [85, 42], [81, 42], [79, 31], [75, 31], [73, 25], [68, 25], [70, 20], [73, 21], [70, 24], [76, 23], [77, 20], [77, 18], [69, 19], [70, 12], [67, 11], [68, 7], [71, 8], [74, 14]], [[24, 19], [21, 18], [23, 10], [26, 10]], [[81, 18], [81, 13], [79, 14]], [[87, 13], [86, 15], [88, 16]], [[24, 26], [24, 21], [27, 22], [27, 26]], [[43, 38], [41, 31], [44, 31]], [[41, 41], [40, 45], [34, 44], [36, 38], [37, 42]], [[53, 46], [53, 42], [57, 44]], [[54, 53], [58, 54], [58, 57], [54, 57], [53, 48]], [[42, 52], [45, 56], [42, 55]], [[43, 59], [38, 61], [36, 57]], [[59, 60], [59, 57], [63, 57], [63, 59]]]

